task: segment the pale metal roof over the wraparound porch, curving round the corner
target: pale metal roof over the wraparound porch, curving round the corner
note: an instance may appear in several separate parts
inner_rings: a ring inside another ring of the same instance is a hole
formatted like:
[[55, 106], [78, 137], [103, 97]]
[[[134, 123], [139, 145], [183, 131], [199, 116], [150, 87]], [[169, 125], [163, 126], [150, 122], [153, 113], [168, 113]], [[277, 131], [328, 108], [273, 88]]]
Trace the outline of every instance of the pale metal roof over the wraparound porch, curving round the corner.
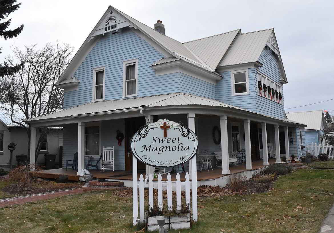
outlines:
[[138, 108], [143, 106], [158, 107], [158, 106], [177, 106], [177, 105], [205, 105], [205, 106], [219, 106], [219, 107], [241, 109], [210, 98], [200, 97], [191, 94], [184, 94], [184, 93], [172, 93], [172, 94], [162, 94], [162, 95], [154, 95], [146, 97], [129, 98], [129, 99], [89, 102], [76, 107], [64, 109], [59, 112], [54, 112], [47, 115], [36, 117], [34, 119], [29, 119], [26, 122], [45, 120], [45, 119], [56, 119], [61, 117], [72, 117], [84, 114], [112, 112], [124, 109], [131, 110], [133, 108]]

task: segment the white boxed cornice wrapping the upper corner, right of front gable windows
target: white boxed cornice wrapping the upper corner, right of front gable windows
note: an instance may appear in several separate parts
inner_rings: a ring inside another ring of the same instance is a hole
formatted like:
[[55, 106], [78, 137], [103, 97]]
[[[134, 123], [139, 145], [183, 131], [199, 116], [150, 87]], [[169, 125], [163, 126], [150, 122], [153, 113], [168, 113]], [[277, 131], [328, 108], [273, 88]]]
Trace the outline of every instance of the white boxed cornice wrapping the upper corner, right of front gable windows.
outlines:
[[151, 65], [151, 68], [156, 70], [156, 75], [180, 72], [214, 85], [217, 85], [217, 80], [222, 79], [220, 75], [214, 74], [210, 71], [189, 64], [183, 60], [177, 60], [158, 65]]

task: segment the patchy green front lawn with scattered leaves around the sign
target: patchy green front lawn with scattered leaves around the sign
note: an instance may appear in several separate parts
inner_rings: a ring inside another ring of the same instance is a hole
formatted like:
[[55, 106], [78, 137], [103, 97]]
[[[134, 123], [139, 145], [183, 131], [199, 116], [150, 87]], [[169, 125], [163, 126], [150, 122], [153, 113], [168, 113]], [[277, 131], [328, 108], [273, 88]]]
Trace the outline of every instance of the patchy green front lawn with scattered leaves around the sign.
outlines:
[[[333, 204], [334, 173], [300, 169], [262, 194], [198, 198], [197, 232], [314, 232]], [[113, 191], [64, 196], [0, 209], [1, 232], [136, 232], [132, 197]]]

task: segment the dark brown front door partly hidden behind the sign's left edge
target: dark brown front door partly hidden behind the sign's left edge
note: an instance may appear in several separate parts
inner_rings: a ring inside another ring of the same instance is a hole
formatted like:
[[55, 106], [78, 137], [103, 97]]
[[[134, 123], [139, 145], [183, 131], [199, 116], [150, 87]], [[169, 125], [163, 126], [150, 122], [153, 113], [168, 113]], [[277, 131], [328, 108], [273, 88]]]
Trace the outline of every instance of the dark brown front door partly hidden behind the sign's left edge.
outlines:
[[[130, 149], [131, 138], [143, 125], [145, 125], [145, 117], [134, 117], [125, 119], [125, 170], [132, 170], [132, 152]], [[145, 170], [145, 168], [145, 164], [138, 161], [138, 169]]]

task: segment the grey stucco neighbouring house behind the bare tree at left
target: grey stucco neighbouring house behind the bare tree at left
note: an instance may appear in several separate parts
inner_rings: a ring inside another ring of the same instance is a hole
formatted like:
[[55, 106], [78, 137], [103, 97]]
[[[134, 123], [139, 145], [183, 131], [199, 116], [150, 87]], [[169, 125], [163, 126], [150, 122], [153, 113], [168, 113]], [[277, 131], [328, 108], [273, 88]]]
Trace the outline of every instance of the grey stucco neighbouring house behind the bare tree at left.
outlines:
[[[16, 145], [13, 151], [13, 165], [16, 165], [18, 161], [26, 160], [24, 156], [20, 155], [27, 155], [28, 152], [27, 131], [23, 126], [12, 122], [9, 109], [9, 104], [0, 103], [0, 167], [5, 170], [8, 170], [10, 167], [10, 150], [7, 148], [10, 143], [13, 142]], [[16, 111], [13, 114], [13, 118], [17, 122], [23, 122], [25, 116], [22, 112]], [[38, 139], [39, 134], [36, 134], [36, 137]], [[46, 134], [43, 139], [41, 151], [36, 163], [44, 163], [44, 154], [57, 154], [55, 163], [58, 164], [60, 146], [62, 146], [62, 129], [49, 129], [48, 134]], [[16, 155], [18, 155], [18, 157], [16, 157]]]

